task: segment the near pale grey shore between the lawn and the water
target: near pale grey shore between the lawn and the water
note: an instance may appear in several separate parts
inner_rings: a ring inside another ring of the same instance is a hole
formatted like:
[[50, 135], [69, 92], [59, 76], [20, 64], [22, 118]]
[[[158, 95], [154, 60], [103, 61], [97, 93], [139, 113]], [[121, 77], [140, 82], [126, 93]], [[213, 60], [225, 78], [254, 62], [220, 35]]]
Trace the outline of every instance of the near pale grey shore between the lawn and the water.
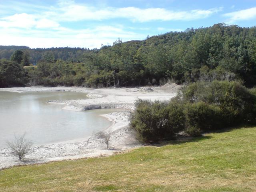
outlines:
[[[111, 132], [110, 146], [114, 147], [114, 149], [107, 150], [104, 141], [97, 138], [95, 135], [86, 138], [33, 146], [25, 156], [23, 162], [20, 162], [9, 148], [0, 148], [0, 169], [58, 160], [109, 156], [126, 149], [141, 146], [140, 143], [135, 140], [133, 132], [128, 130], [128, 121], [119, 121], [118, 123], [118, 120], [113, 118], [114, 116], [116, 116], [116, 118], [126, 116], [124, 112], [112, 112], [100, 116], [112, 122], [112, 125], [104, 131]], [[112, 118], [110, 118], [110, 116], [112, 116]]]

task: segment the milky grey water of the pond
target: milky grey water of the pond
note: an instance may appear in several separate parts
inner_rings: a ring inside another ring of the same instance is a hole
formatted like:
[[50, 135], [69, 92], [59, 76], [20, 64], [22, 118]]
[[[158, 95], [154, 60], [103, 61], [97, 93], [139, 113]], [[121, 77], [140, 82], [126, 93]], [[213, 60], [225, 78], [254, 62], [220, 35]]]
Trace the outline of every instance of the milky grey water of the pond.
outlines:
[[21, 135], [24, 132], [35, 145], [43, 145], [84, 138], [108, 128], [112, 123], [98, 114], [114, 110], [75, 112], [63, 110], [63, 105], [46, 103], [48, 100], [82, 98], [86, 98], [86, 94], [0, 91], [0, 148], [6, 147], [6, 141], [13, 140], [14, 134]]

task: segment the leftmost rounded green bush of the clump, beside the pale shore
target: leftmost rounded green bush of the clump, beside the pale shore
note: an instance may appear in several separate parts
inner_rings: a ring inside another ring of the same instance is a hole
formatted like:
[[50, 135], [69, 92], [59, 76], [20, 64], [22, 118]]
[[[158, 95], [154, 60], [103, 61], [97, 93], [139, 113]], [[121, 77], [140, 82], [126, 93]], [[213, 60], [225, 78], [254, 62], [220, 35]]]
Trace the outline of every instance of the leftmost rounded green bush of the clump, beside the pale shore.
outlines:
[[151, 102], [138, 99], [136, 110], [132, 113], [130, 126], [144, 142], [157, 142], [173, 138], [184, 128], [182, 105], [178, 102]]

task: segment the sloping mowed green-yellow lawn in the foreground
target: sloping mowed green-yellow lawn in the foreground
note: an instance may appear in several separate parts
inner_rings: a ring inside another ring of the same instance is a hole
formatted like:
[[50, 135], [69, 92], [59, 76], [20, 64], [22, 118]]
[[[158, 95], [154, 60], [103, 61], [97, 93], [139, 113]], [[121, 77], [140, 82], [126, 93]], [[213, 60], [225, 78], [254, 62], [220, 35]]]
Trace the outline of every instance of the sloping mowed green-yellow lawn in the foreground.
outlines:
[[256, 128], [0, 171], [1, 192], [256, 191]]

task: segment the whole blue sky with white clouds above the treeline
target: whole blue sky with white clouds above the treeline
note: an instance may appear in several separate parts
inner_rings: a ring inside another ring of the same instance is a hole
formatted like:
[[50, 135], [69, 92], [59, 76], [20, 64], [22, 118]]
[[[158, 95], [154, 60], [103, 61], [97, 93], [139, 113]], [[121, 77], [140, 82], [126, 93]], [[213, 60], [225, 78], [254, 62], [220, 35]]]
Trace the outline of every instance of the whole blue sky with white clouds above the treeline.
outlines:
[[256, 26], [256, 0], [0, 0], [0, 45], [100, 48], [222, 22]]

